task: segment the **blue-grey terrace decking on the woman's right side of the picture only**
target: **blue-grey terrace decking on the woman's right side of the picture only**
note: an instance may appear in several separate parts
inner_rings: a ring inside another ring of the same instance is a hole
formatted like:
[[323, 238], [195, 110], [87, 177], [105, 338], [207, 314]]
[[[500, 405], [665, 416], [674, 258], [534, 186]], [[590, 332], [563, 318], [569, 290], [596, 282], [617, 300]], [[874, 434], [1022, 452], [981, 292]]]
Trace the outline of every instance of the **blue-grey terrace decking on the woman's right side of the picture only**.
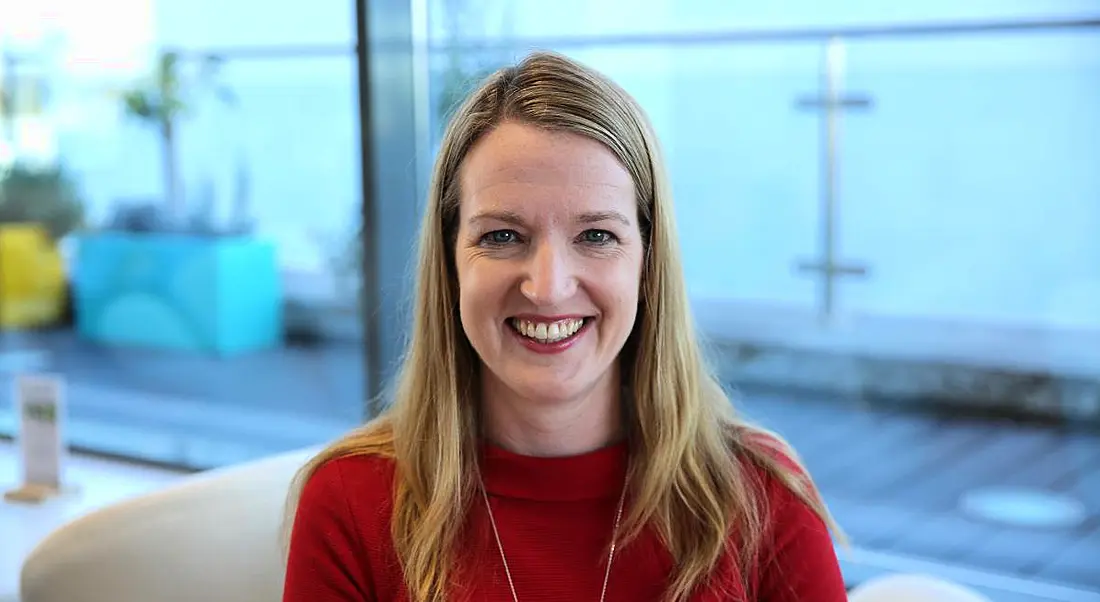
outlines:
[[[1100, 437], [751, 395], [741, 405], [800, 451], [855, 544], [1093, 592], [1100, 599]], [[1067, 494], [1074, 528], [985, 521], [959, 507], [989, 485]]]

